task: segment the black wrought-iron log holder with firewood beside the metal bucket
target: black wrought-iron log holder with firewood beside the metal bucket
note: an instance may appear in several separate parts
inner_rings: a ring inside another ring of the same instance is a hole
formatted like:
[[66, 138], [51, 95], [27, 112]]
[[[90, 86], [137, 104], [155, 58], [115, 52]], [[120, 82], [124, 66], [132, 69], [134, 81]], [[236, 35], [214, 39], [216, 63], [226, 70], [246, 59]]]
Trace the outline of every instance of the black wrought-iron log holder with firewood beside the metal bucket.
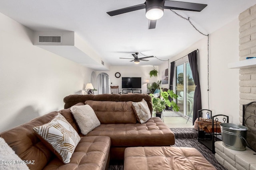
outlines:
[[[200, 129], [200, 121], [206, 121], [206, 124], [210, 127], [211, 131], [208, 129]], [[207, 123], [208, 121], [208, 123]], [[198, 110], [198, 142], [206, 146], [212, 153], [215, 153], [214, 143], [216, 141], [222, 141], [220, 132], [220, 123], [228, 123], [228, 116], [223, 114], [218, 114], [212, 116], [212, 111], [208, 109]]]

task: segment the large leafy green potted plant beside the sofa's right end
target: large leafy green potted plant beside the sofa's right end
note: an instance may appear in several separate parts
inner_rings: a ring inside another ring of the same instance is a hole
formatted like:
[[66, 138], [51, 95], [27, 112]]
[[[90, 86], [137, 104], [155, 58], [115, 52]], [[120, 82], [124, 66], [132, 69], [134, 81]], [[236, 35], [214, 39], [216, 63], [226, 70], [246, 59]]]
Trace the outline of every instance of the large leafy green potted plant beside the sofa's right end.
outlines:
[[175, 94], [172, 90], [168, 90], [167, 92], [160, 92], [160, 96], [156, 96], [154, 94], [150, 94], [152, 97], [152, 106], [153, 106], [153, 111], [156, 112], [156, 116], [161, 118], [162, 111], [165, 109], [166, 106], [171, 107], [173, 111], [179, 111], [180, 107], [172, 100], [170, 102], [169, 96], [173, 99], [178, 98], [178, 95]]

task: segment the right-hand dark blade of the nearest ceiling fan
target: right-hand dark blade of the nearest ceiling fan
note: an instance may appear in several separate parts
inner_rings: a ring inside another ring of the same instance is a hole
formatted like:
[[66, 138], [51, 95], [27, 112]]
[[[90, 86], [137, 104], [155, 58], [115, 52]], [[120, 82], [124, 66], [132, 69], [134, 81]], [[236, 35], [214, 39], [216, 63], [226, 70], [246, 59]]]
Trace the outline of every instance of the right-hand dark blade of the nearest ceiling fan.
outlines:
[[170, 10], [186, 10], [186, 11], [202, 11], [207, 4], [197, 4], [192, 2], [180, 2], [180, 1], [172, 1], [165, 0], [164, 9]]

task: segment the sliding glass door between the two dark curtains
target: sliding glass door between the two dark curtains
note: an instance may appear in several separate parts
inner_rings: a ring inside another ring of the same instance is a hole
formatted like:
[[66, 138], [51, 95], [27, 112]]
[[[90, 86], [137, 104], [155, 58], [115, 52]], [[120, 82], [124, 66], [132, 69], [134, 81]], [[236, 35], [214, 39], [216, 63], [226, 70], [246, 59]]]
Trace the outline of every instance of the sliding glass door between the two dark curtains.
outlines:
[[176, 94], [178, 94], [177, 104], [180, 107], [180, 114], [184, 117], [193, 117], [194, 91], [195, 84], [192, 77], [192, 71], [187, 59], [182, 62], [176, 62], [175, 84]]

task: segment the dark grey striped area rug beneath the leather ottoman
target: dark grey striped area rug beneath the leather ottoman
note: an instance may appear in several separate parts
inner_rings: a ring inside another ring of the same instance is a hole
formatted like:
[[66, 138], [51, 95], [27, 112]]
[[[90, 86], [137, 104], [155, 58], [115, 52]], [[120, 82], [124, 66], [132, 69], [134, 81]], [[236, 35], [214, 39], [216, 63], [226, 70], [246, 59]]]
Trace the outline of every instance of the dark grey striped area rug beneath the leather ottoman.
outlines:
[[[197, 140], [197, 131], [194, 128], [170, 128], [175, 135], [175, 145], [172, 147], [196, 148], [217, 170], [227, 170], [218, 163], [214, 154]], [[124, 162], [110, 162], [108, 170], [123, 170]]]

